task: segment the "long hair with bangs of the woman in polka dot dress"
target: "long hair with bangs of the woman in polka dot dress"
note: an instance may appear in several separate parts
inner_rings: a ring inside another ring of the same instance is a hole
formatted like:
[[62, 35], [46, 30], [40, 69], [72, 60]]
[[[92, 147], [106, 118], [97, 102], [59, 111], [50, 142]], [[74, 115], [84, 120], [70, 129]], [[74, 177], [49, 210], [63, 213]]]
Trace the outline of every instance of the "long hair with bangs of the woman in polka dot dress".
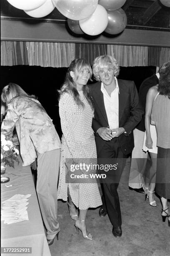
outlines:
[[[80, 100], [80, 95], [77, 91], [76, 81], [78, 80], [78, 75], [80, 71], [83, 71], [84, 69], [87, 69], [90, 72], [90, 80], [91, 80], [92, 69], [90, 67], [90, 64], [85, 59], [74, 59], [67, 70], [64, 84], [62, 85], [61, 89], [58, 90], [60, 97], [65, 92], [70, 93], [73, 96], [75, 103], [82, 108], [84, 108], [84, 103]], [[77, 77], [75, 77], [75, 79], [71, 77], [70, 75], [71, 71], [77, 74]], [[87, 84], [83, 86], [83, 94], [87, 102], [91, 106], [91, 108], [93, 108], [92, 100], [90, 97], [89, 88]], [[60, 100], [60, 97], [59, 97], [59, 100]]]

